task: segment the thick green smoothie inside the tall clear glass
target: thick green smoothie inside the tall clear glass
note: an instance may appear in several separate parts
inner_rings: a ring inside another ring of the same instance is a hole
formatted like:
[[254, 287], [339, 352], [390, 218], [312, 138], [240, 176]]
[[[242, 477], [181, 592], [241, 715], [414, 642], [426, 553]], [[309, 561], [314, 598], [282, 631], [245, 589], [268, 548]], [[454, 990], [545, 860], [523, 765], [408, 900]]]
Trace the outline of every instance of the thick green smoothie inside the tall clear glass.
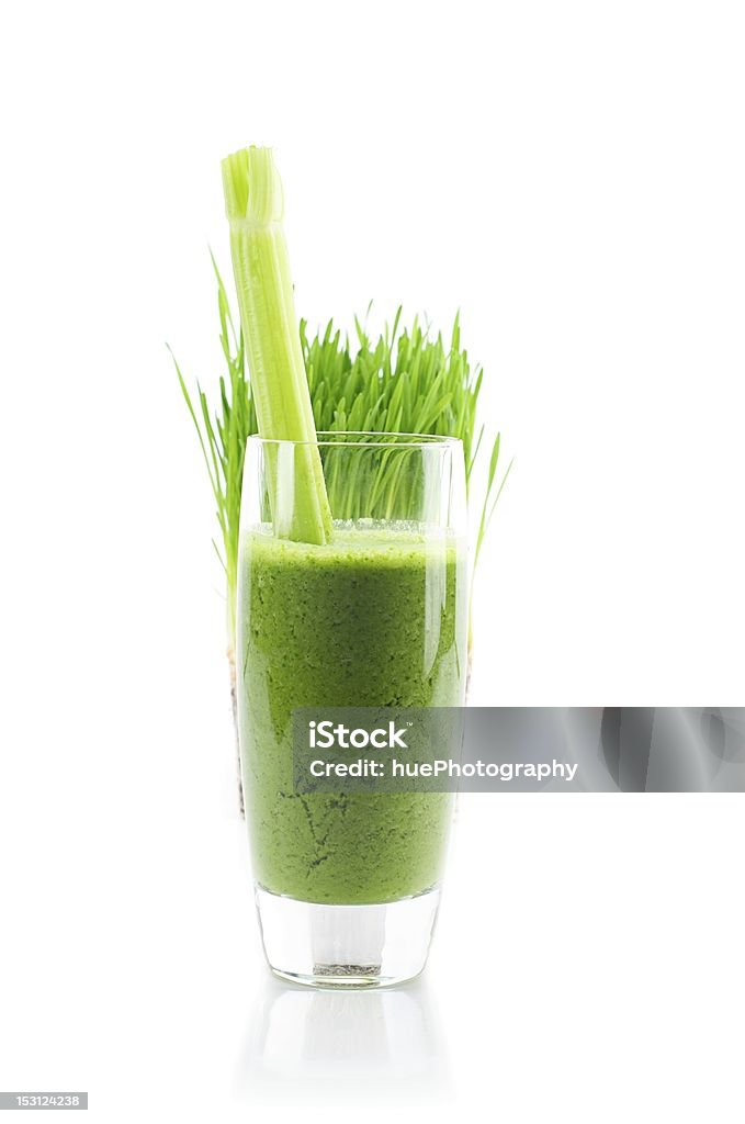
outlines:
[[256, 528], [243, 560], [240, 750], [257, 882], [334, 905], [429, 889], [442, 874], [452, 797], [294, 794], [292, 711], [461, 705], [461, 544], [445, 532], [342, 525], [314, 546]]

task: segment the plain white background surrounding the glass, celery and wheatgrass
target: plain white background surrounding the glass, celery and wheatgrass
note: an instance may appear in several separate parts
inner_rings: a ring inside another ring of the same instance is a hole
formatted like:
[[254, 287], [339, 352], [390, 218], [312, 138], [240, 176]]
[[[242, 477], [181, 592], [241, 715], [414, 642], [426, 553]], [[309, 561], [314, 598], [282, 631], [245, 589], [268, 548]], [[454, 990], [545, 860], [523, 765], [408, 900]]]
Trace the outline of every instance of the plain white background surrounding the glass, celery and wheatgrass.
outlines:
[[1, 18], [0, 1088], [107, 1122], [742, 1121], [742, 797], [470, 797], [420, 985], [267, 978], [164, 346], [213, 386], [219, 160], [275, 145], [311, 324], [460, 307], [485, 368], [517, 460], [474, 701], [742, 703], [742, 4]]

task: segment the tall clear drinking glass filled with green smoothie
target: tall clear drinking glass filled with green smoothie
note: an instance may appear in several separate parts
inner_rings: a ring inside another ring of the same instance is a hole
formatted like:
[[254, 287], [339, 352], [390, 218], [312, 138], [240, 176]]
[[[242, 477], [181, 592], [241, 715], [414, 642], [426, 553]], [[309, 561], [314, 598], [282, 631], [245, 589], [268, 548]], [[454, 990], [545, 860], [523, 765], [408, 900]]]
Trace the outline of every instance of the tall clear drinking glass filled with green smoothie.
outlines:
[[287, 526], [302, 443], [252, 437], [238, 574], [238, 718], [264, 950], [292, 980], [380, 986], [425, 966], [453, 798], [296, 792], [300, 707], [462, 706], [465, 471], [460, 441], [319, 434], [334, 534]]

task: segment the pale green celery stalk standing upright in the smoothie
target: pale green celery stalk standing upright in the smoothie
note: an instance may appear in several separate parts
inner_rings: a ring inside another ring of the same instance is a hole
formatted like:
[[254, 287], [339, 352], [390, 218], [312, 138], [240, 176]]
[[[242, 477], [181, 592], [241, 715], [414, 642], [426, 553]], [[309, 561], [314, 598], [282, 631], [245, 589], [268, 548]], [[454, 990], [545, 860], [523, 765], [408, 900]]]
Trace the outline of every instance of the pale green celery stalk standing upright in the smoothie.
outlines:
[[240, 324], [258, 434], [306, 442], [267, 456], [274, 532], [325, 543], [331, 516], [317, 444], [294, 310], [282, 217], [282, 183], [271, 148], [244, 148], [222, 161], [222, 187]]

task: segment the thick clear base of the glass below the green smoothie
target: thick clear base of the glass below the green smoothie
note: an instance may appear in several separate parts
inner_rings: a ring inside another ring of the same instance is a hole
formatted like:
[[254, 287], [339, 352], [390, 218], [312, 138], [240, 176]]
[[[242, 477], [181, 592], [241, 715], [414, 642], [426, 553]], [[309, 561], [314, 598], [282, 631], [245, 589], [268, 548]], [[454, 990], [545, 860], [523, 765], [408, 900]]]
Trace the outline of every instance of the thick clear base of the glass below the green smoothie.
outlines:
[[276, 976], [309, 987], [390, 987], [429, 952], [439, 889], [387, 905], [327, 906], [256, 887], [264, 952]]

